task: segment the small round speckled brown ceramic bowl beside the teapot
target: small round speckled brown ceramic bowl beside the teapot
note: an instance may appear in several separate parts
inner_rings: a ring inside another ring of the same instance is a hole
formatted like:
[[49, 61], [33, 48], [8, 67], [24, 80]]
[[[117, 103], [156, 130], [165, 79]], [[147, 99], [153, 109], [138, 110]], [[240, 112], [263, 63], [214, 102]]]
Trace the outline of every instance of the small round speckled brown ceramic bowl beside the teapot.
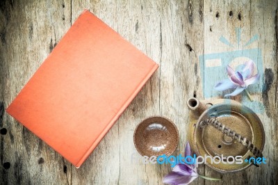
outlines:
[[179, 143], [179, 132], [167, 118], [151, 117], [138, 124], [133, 141], [142, 156], [170, 156]]

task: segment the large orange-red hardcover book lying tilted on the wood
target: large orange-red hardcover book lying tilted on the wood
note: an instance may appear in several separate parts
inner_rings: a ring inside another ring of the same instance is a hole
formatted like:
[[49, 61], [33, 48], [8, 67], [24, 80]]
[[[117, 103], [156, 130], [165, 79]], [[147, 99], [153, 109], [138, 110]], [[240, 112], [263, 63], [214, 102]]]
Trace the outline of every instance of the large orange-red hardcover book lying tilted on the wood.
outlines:
[[157, 67], [85, 10], [7, 112], [79, 168]]

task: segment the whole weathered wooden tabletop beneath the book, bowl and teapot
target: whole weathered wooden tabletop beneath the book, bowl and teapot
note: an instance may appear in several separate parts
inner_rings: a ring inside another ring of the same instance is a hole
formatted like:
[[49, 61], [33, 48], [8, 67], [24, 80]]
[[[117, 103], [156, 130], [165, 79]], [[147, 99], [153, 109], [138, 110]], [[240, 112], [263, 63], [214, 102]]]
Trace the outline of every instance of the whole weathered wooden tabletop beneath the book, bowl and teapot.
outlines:
[[[76, 169], [4, 110], [85, 8], [160, 67]], [[170, 165], [131, 160], [138, 155], [133, 131], [151, 115], [170, 118], [180, 136], [175, 154], [182, 153], [188, 126], [186, 100], [204, 98], [199, 56], [232, 51], [219, 38], [223, 35], [235, 43], [236, 28], [241, 28], [243, 42], [259, 35], [250, 47], [261, 49], [264, 90], [252, 96], [265, 106], [259, 118], [265, 129], [263, 154], [268, 163], [234, 174], [201, 166], [200, 174], [222, 177], [222, 182], [197, 178], [193, 184], [278, 184], [277, 8], [275, 0], [1, 1], [0, 184], [163, 184]], [[240, 101], [241, 95], [233, 99]]]

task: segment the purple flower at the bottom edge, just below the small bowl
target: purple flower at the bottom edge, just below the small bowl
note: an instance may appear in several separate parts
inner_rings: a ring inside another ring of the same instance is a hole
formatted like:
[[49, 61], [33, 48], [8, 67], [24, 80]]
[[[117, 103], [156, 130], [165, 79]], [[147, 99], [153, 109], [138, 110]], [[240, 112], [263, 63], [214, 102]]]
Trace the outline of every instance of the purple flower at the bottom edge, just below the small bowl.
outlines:
[[[185, 156], [191, 156], [189, 143], [186, 144]], [[195, 164], [179, 163], [174, 166], [172, 172], [166, 175], [163, 183], [166, 184], [189, 184], [198, 177], [197, 168]]]

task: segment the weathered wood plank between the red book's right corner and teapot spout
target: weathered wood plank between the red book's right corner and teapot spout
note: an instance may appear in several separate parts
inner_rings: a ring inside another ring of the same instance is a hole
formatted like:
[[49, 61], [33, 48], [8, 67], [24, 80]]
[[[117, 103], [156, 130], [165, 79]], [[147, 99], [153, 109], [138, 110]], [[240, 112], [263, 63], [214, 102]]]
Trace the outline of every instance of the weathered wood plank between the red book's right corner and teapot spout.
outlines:
[[[160, 114], [170, 118], [179, 129], [179, 146], [174, 153], [179, 155], [184, 153], [186, 144], [187, 99], [202, 95], [198, 57], [203, 53], [203, 2], [163, 2]], [[170, 172], [170, 166], [161, 169], [162, 179]], [[202, 173], [202, 167], [199, 170]], [[193, 184], [203, 183], [203, 179], [196, 179]]]

